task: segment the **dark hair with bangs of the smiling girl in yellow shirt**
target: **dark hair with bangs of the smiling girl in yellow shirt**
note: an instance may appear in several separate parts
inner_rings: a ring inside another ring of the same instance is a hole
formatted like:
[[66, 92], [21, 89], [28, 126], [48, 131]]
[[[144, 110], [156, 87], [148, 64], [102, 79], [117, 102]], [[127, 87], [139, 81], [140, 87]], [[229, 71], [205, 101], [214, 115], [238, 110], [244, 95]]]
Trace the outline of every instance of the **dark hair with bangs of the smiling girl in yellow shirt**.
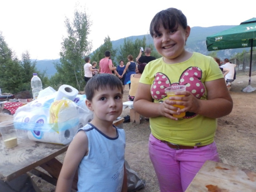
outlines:
[[155, 33], [159, 33], [159, 28], [163, 25], [164, 29], [177, 29], [180, 24], [184, 29], [187, 28], [187, 18], [176, 8], [168, 8], [158, 12], [151, 21], [150, 34], [153, 37]]

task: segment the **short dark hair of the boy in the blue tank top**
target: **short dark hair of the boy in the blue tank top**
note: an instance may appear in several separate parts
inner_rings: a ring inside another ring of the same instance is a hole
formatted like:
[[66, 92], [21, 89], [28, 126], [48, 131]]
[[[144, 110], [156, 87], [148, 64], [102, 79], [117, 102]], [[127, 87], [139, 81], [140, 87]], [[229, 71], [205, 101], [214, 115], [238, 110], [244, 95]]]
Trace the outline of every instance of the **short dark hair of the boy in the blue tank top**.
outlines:
[[95, 90], [99, 89], [119, 89], [123, 94], [123, 85], [118, 77], [108, 73], [101, 73], [93, 76], [86, 84], [84, 91], [86, 92], [86, 98], [92, 101]]

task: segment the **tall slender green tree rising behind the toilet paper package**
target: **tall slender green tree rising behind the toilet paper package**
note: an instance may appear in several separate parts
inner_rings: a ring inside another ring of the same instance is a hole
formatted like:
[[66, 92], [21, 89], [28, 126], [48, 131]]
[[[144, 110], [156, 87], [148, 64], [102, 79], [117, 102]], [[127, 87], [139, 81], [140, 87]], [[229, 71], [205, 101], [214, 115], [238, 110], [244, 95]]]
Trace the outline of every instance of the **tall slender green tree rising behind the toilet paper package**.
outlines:
[[59, 82], [69, 84], [80, 91], [81, 87], [84, 87], [83, 58], [89, 55], [92, 49], [88, 39], [91, 22], [86, 11], [80, 11], [76, 7], [73, 21], [66, 17], [65, 25], [68, 36], [63, 37], [59, 53], [60, 63], [54, 63], [57, 74], [51, 82], [58, 79]]

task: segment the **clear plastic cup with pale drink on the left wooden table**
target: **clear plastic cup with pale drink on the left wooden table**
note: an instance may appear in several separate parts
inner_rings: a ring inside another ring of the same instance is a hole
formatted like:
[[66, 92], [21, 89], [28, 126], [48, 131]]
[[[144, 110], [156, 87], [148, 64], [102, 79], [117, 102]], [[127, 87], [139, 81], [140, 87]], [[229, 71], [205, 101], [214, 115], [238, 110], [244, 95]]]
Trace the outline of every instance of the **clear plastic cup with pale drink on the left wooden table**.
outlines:
[[17, 146], [17, 135], [13, 121], [5, 121], [0, 123], [0, 132], [6, 148]]

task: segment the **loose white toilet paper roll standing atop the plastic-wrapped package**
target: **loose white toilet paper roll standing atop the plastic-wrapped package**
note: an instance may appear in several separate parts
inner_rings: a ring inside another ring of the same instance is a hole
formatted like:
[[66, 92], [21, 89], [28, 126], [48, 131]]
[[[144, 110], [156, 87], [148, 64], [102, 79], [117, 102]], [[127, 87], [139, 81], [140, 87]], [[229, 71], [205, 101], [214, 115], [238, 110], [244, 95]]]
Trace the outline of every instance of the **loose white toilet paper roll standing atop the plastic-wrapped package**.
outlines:
[[67, 98], [70, 100], [74, 100], [76, 95], [78, 94], [78, 90], [69, 86], [68, 84], [62, 84], [57, 91], [57, 95], [55, 97], [56, 100], [60, 100], [62, 98]]

